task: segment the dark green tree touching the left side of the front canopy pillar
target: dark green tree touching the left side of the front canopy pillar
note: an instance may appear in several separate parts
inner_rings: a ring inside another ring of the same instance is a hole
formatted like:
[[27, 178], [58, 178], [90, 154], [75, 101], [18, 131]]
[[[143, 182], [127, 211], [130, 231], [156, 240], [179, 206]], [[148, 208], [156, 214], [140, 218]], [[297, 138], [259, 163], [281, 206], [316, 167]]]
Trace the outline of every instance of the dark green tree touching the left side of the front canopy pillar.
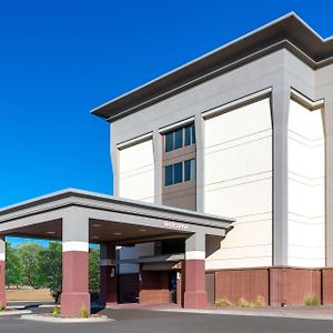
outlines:
[[50, 242], [48, 249], [39, 253], [39, 275], [43, 286], [49, 287], [56, 303], [59, 302], [62, 291], [62, 244]]

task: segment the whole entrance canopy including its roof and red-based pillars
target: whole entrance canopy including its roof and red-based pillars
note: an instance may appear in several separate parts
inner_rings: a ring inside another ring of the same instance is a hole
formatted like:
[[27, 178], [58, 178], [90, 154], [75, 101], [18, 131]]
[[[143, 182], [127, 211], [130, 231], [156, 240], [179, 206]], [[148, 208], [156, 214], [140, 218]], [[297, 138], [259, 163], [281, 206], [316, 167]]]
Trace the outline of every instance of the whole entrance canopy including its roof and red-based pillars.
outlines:
[[[101, 303], [113, 303], [118, 300], [117, 245], [183, 239], [185, 253], [180, 253], [181, 256], [173, 253], [158, 261], [170, 263], [184, 259], [183, 304], [203, 307], [205, 239], [225, 236], [232, 222], [231, 219], [71, 189], [2, 209], [0, 305], [6, 305], [3, 238], [11, 235], [62, 241], [61, 313], [74, 316], [80, 314], [83, 305], [90, 305], [89, 243], [101, 245]], [[151, 265], [157, 258], [140, 260]], [[149, 280], [148, 276], [144, 279]], [[142, 281], [141, 284], [147, 282]], [[142, 297], [143, 287], [141, 285]], [[152, 296], [151, 291], [147, 293]]]

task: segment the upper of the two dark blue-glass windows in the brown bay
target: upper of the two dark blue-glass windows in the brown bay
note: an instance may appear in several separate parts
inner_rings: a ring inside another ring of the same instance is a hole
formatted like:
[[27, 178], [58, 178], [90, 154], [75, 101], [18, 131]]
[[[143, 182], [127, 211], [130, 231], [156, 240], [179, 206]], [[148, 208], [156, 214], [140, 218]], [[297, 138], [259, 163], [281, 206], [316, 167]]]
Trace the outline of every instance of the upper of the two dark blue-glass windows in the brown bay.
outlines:
[[194, 124], [179, 128], [165, 134], [165, 152], [195, 143]]

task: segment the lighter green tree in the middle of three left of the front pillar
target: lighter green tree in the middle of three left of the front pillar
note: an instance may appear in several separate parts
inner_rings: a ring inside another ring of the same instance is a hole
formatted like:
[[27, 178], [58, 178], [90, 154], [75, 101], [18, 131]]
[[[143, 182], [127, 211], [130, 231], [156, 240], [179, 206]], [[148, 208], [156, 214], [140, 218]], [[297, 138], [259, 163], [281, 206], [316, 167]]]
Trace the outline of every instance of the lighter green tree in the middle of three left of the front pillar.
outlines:
[[22, 263], [22, 283], [30, 285], [34, 289], [44, 285], [43, 274], [39, 270], [40, 253], [43, 251], [43, 246], [27, 242], [18, 246], [17, 253]]

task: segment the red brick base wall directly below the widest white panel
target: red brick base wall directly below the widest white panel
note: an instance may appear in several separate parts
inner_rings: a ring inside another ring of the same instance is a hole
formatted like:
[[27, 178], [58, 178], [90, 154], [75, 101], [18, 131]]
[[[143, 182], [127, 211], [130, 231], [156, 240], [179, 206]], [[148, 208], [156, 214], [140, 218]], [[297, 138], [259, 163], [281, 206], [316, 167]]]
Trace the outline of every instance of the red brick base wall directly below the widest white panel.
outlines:
[[235, 303], [240, 297], [255, 301], [262, 296], [269, 303], [268, 269], [222, 270], [215, 272], [215, 300], [228, 299]]

